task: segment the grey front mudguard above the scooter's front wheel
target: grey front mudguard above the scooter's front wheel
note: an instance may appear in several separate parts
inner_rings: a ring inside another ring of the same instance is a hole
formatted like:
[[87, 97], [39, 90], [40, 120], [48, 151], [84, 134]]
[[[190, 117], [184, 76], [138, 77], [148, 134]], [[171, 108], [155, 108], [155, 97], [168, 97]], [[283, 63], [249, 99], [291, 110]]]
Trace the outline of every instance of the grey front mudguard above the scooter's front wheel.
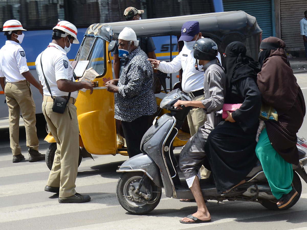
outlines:
[[155, 185], [163, 187], [161, 174], [156, 163], [146, 153], [140, 153], [126, 160], [116, 172], [144, 172]]

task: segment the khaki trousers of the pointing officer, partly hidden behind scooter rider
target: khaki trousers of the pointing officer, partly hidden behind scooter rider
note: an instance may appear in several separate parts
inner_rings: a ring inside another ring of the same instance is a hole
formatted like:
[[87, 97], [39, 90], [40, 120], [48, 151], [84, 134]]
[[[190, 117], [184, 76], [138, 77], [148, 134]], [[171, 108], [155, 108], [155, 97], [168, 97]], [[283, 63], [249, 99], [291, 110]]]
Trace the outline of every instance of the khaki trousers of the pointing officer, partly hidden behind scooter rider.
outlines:
[[[204, 100], [204, 95], [196, 96], [192, 98], [193, 101]], [[191, 133], [191, 137], [197, 132], [198, 128], [205, 124], [207, 121], [207, 114], [203, 108], [191, 109], [188, 113], [188, 125]], [[211, 171], [206, 169], [203, 165], [200, 168], [201, 178], [209, 178]]]

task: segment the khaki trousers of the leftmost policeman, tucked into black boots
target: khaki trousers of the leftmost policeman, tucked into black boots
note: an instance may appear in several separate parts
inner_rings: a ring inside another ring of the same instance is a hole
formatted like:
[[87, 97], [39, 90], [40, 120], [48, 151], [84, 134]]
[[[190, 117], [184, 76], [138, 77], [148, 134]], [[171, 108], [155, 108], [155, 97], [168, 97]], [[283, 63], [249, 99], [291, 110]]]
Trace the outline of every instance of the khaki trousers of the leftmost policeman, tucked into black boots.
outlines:
[[25, 123], [26, 145], [38, 151], [39, 141], [36, 133], [35, 104], [30, 83], [26, 80], [10, 83], [4, 88], [6, 103], [9, 107], [10, 147], [13, 155], [21, 154], [19, 145], [20, 112]]

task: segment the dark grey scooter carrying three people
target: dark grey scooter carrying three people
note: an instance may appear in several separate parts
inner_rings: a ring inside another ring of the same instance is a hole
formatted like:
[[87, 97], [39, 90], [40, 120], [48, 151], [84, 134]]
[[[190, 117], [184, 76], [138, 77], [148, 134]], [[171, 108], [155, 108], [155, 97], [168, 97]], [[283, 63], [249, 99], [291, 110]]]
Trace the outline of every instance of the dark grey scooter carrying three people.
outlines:
[[[178, 175], [178, 162], [173, 154], [173, 140], [191, 109], [175, 109], [173, 105], [178, 100], [191, 101], [191, 98], [179, 89], [167, 94], [160, 107], [168, 109], [170, 113], [163, 114], [159, 119], [155, 118], [153, 125], [143, 136], [143, 153], [126, 160], [117, 170], [122, 175], [117, 183], [116, 195], [120, 205], [130, 213], [144, 214], [152, 211], [161, 199], [162, 187], [166, 197], [194, 199], [183, 174]], [[307, 142], [298, 138], [297, 148], [300, 161], [299, 165], [293, 165], [292, 186], [301, 195], [302, 185], [298, 174], [307, 183], [307, 174], [303, 167], [307, 164]], [[246, 183], [224, 196], [217, 192], [210, 179], [201, 179], [200, 188], [206, 200], [253, 201], [268, 209], [279, 210], [259, 161], [247, 175]], [[291, 206], [298, 199], [299, 197]]]

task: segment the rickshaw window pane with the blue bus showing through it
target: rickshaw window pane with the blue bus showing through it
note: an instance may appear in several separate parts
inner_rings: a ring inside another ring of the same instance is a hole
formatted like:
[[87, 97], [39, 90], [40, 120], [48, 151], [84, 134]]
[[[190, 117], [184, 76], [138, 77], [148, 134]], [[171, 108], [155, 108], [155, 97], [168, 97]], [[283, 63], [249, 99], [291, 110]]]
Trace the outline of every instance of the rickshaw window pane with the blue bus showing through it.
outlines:
[[91, 56], [88, 59], [90, 62], [88, 63], [87, 68], [93, 67], [93, 69], [99, 74], [103, 75], [105, 66], [104, 66], [104, 50], [105, 41], [101, 38], [97, 38], [95, 42], [95, 46], [92, 50]]

